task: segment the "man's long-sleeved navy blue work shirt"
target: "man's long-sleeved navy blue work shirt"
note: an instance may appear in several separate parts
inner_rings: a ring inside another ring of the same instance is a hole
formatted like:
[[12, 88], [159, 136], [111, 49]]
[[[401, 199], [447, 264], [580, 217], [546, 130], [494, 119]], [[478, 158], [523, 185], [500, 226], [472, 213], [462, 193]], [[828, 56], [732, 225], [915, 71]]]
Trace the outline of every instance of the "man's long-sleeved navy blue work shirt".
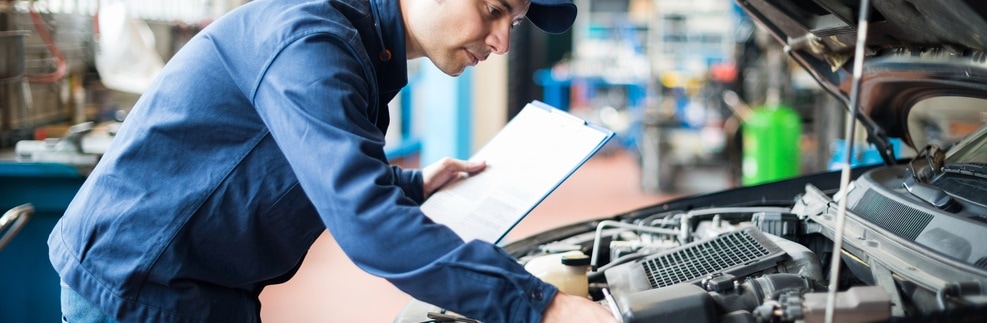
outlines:
[[398, 1], [371, 1], [253, 1], [184, 45], [52, 231], [62, 279], [122, 321], [258, 321], [264, 286], [328, 228], [421, 301], [540, 321], [557, 289], [430, 221], [421, 173], [388, 164], [404, 22]]

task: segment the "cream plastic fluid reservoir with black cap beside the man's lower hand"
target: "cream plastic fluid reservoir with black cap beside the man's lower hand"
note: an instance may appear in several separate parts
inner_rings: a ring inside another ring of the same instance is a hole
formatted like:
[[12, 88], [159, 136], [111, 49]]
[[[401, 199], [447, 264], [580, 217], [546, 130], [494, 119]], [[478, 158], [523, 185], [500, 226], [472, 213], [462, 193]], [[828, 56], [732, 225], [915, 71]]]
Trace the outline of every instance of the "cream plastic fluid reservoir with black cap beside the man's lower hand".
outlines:
[[582, 251], [569, 251], [537, 257], [524, 265], [535, 277], [569, 295], [589, 297], [589, 257]]

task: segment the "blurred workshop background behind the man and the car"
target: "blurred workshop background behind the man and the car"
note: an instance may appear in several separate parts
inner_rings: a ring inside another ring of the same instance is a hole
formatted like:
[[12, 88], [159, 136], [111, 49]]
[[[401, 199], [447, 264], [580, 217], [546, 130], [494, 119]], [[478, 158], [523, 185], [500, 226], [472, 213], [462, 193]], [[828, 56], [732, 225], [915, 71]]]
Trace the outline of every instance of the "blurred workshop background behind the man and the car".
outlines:
[[[0, 250], [0, 284], [44, 285], [6, 289], [0, 321], [58, 317], [50, 302], [57, 289], [46, 291], [57, 286], [45, 246], [51, 226], [141, 84], [209, 22], [246, 2], [0, 0], [0, 210], [24, 203], [37, 210]], [[574, 3], [580, 15], [569, 32], [546, 35], [523, 24], [510, 53], [459, 78], [409, 62], [411, 82], [390, 104], [391, 120], [400, 120], [387, 133], [391, 161], [418, 167], [468, 158], [534, 100], [615, 131], [507, 241], [842, 166], [839, 103], [733, 1]], [[741, 127], [769, 112], [774, 119], [763, 128]], [[788, 141], [762, 155], [744, 150], [745, 140], [766, 137]], [[861, 147], [856, 164], [880, 162]], [[357, 269], [326, 233], [291, 281], [261, 294], [262, 319], [386, 322], [410, 300]]]

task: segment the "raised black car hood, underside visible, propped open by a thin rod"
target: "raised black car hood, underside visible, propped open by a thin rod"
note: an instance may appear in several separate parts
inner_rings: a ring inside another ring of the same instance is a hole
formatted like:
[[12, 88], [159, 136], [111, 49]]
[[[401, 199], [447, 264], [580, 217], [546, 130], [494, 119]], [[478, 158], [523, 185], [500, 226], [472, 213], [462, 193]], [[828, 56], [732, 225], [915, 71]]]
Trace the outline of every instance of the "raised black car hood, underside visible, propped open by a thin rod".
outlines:
[[[737, 3], [850, 106], [859, 0]], [[987, 2], [979, 0], [871, 1], [857, 118], [879, 149], [890, 153], [887, 137], [914, 148], [906, 118], [915, 103], [934, 96], [985, 96], [985, 17]]]

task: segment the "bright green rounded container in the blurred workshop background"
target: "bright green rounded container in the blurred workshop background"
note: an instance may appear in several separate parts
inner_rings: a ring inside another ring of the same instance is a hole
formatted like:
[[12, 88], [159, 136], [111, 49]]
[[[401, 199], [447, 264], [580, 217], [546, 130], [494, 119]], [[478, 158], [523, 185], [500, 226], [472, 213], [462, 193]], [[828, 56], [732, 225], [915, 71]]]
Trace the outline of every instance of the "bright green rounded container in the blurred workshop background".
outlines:
[[756, 108], [744, 120], [741, 181], [773, 182], [799, 175], [802, 118], [783, 104]]

